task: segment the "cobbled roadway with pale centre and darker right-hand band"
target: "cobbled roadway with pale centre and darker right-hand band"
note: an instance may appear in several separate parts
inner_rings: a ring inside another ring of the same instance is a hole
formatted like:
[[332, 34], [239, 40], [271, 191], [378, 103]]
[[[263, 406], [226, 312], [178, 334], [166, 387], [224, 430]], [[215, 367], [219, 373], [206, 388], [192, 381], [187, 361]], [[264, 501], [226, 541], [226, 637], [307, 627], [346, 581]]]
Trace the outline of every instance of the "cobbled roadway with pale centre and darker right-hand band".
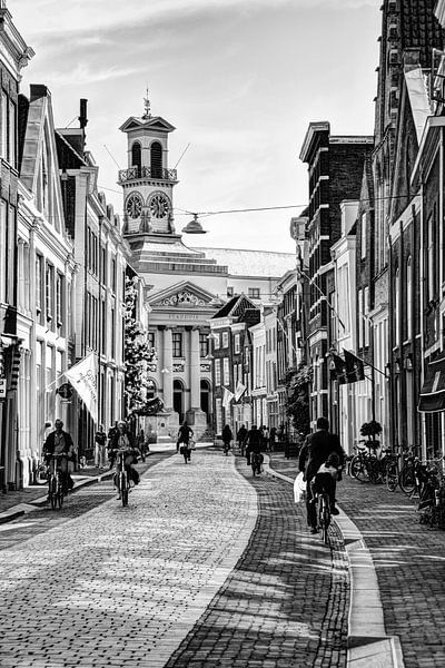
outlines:
[[[310, 538], [289, 485], [251, 481], [235, 461], [197, 451], [185, 466], [172, 455], [147, 471], [127, 509], [109, 498], [4, 543], [0, 666], [343, 667], [339, 536], [332, 550]], [[111, 482], [82, 493], [102, 501]]]

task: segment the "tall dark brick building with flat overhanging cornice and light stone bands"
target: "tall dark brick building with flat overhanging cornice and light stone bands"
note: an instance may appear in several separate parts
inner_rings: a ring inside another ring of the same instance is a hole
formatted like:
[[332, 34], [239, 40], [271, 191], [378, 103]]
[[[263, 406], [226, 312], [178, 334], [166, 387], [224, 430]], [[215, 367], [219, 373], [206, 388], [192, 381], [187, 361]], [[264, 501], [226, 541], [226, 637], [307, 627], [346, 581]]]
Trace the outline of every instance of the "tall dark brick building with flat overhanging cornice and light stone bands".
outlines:
[[[330, 347], [330, 313], [326, 296], [335, 292], [330, 247], [342, 234], [340, 203], [357, 199], [364, 163], [373, 137], [333, 136], [328, 122], [312, 122], [300, 151], [308, 165], [308, 362], [313, 365], [312, 421], [329, 415], [329, 373], [326, 354]], [[338, 424], [333, 425], [338, 429]]]

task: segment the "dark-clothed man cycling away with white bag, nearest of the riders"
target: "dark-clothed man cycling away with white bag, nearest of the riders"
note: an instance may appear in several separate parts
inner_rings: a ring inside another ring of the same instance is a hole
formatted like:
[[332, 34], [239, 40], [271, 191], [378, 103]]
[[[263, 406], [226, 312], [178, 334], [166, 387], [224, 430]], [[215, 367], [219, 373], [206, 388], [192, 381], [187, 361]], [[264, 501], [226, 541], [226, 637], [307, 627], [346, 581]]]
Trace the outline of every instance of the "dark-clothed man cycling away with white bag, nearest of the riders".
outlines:
[[[315, 495], [312, 482], [319, 472], [319, 469], [328, 461], [329, 455], [334, 453], [338, 456], [338, 466], [340, 469], [345, 461], [343, 448], [336, 434], [329, 432], [329, 422], [326, 418], [318, 418], [317, 431], [306, 438], [305, 444], [299, 453], [298, 469], [304, 472], [306, 481], [306, 509], [307, 523], [310, 527], [312, 533], [317, 533], [317, 511], [315, 507]], [[336, 480], [329, 475], [330, 481], [327, 481], [328, 489], [325, 491], [329, 494], [330, 512], [338, 514], [338, 509], [335, 507], [335, 490]]]

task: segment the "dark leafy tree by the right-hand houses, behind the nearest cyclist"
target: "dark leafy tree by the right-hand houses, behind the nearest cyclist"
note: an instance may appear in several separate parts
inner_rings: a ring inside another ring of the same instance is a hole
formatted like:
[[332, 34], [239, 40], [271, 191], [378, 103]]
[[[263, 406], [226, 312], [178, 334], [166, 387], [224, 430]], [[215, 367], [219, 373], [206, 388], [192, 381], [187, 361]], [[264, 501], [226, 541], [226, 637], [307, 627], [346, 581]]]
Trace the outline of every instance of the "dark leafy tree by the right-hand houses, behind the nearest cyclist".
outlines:
[[313, 380], [312, 366], [299, 364], [289, 369], [285, 377], [286, 412], [299, 434], [310, 429], [309, 387]]

